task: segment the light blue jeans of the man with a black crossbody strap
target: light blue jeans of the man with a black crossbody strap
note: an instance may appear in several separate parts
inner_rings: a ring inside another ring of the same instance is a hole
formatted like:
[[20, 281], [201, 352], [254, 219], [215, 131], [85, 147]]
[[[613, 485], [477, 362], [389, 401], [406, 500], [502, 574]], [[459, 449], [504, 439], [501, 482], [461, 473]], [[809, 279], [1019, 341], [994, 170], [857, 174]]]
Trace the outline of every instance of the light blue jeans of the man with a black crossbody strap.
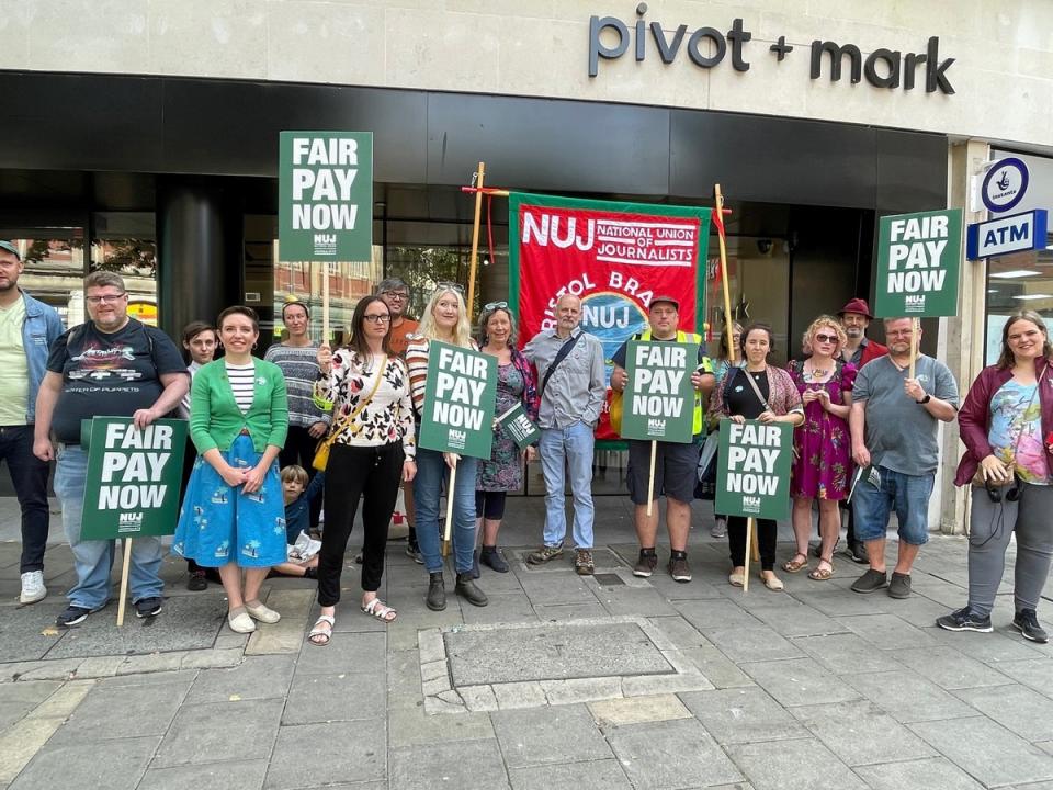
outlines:
[[567, 535], [564, 467], [570, 474], [574, 497], [574, 545], [592, 548], [592, 428], [575, 422], [541, 431], [539, 454], [545, 476], [545, 545], [557, 546]]

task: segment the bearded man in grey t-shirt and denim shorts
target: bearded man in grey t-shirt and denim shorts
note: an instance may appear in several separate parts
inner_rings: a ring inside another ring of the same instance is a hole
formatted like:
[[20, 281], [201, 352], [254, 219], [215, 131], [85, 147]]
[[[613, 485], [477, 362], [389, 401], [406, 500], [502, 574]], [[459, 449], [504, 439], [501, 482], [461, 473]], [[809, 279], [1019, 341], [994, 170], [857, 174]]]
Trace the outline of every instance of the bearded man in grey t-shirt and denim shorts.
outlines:
[[[915, 377], [909, 377], [910, 324], [910, 318], [885, 318], [888, 353], [860, 370], [849, 417], [852, 459], [862, 469], [852, 494], [856, 537], [870, 561], [852, 589], [873, 592], [887, 586], [893, 598], [910, 595], [910, 567], [929, 539], [937, 422], [950, 422], [958, 413], [958, 385], [942, 362], [919, 354]], [[899, 521], [899, 552], [890, 584], [885, 530], [893, 509]]]

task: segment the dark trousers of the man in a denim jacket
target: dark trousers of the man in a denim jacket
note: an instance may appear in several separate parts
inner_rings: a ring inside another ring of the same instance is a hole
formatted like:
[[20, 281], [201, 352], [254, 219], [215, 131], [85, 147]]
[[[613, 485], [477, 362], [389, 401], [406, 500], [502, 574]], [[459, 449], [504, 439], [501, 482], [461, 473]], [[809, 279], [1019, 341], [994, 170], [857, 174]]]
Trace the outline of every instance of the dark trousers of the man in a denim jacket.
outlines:
[[33, 454], [33, 426], [0, 428], [0, 459], [8, 462], [11, 483], [22, 508], [22, 561], [19, 573], [44, 569], [50, 515], [47, 511], [46, 461]]

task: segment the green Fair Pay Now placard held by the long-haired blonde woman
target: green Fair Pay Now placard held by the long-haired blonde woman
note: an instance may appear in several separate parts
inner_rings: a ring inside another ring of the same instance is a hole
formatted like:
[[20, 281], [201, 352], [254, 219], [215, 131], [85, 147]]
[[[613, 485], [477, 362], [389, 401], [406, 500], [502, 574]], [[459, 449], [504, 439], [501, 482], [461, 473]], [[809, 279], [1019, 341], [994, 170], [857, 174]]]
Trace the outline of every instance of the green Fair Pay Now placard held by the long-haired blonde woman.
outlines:
[[432, 340], [418, 444], [488, 459], [494, 441], [497, 360]]

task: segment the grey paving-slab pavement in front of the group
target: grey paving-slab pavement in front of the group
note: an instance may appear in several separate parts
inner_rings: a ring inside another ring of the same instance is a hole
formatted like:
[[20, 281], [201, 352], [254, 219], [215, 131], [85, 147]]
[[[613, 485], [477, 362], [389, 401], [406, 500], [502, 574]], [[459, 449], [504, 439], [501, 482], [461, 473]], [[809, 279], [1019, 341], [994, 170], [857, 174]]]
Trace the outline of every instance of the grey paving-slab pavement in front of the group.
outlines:
[[111, 603], [59, 631], [60, 517], [49, 596], [19, 607], [18, 507], [0, 499], [0, 790], [1053, 789], [1053, 658], [1009, 625], [1012, 549], [995, 632], [950, 633], [933, 620], [964, 603], [962, 538], [932, 535], [907, 600], [852, 592], [862, 567], [840, 556], [829, 582], [781, 573], [784, 592], [756, 577], [744, 592], [706, 504], [689, 584], [664, 548], [650, 579], [632, 576], [623, 497], [597, 497], [595, 577], [569, 553], [528, 567], [543, 508], [510, 499], [512, 569], [484, 568], [485, 608], [448, 573], [449, 607], [429, 611], [424, 571], [392, 542], [389, 627], [358, 609], [352, 542], [316, 647], [310, 583], [269, 580], [282, 620], [242, 636], [222, 588], [188, 592], [171, 557], [156, 619], [129, 611], [118, 630]]

